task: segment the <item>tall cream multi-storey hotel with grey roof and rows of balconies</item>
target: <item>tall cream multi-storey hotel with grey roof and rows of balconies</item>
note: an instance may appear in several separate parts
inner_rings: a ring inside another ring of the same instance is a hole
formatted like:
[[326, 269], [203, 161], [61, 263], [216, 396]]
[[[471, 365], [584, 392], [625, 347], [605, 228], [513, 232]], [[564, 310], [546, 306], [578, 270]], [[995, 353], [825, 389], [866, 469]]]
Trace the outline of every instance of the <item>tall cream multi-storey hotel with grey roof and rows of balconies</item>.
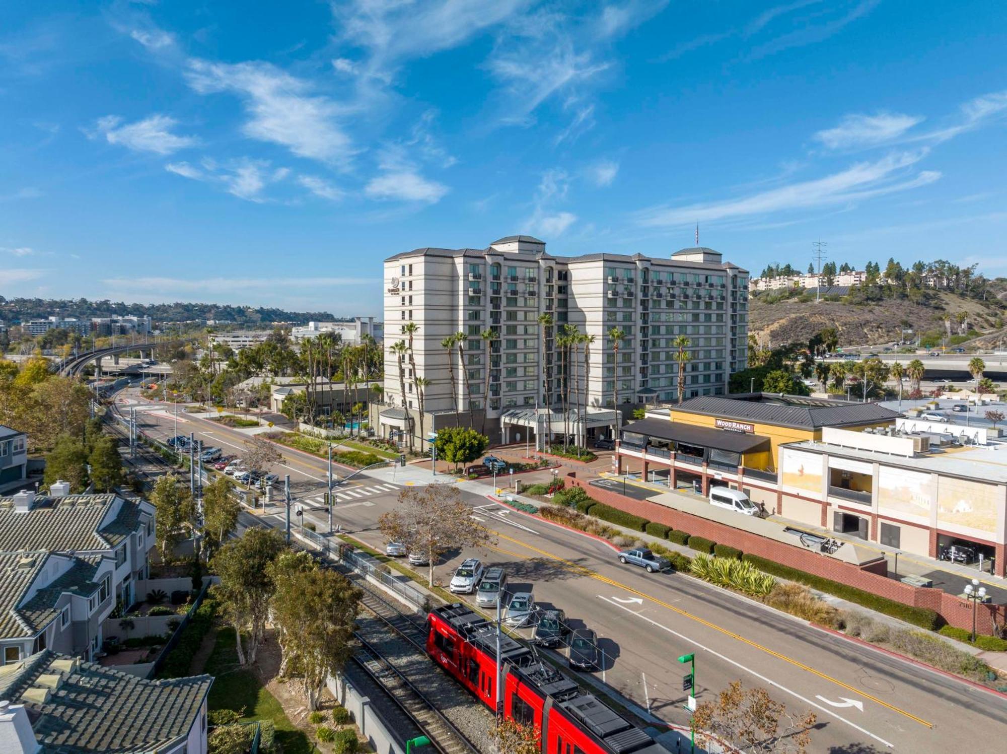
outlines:
[[[564, 349], [571, 329], [593, 341]], [[705, 247], [563, 257], [531, 236], [396, 254], [385, 260], [384, 402], [372, 426], [419, 435], [422, 390], [424, 433], [457, 423], [492, 442], [611, 436], [633, 408], [677, 400], [678, 336], [692, 357], [685, 397], [727, 392], [747, 363], [748, 272]], [[399, 341], [411, 348], [397, 353]]]

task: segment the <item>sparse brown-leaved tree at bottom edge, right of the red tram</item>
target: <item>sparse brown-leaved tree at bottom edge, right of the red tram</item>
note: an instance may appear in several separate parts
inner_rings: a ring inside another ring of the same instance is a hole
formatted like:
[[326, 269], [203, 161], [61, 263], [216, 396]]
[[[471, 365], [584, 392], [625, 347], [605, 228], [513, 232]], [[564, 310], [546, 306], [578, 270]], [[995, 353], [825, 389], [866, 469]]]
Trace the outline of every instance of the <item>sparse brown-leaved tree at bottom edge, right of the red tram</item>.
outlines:
[[740, 752], [805, 754], [817, 720], [812, 712], [795, 716], [765, 688], [743, 688], [735, 680], [696, 708], [693, 728], [701, 745], [719, 742]]

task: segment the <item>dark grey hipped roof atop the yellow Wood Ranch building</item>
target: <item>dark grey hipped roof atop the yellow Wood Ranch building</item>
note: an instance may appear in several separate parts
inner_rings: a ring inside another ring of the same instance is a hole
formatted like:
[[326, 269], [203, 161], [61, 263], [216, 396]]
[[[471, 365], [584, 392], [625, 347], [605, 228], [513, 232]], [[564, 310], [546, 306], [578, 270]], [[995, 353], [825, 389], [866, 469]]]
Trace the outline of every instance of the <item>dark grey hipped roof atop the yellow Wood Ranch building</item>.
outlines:
[[877, 403], [855, 403], [801, 395], [780, 396], [774, 393], [743, 393], [733, 397], [700, 395], [680, 406], [672, 406], [673, 416], [675, 411], [748, 419], [801, 429], [875, 424], [893, 421], [901, 415]]

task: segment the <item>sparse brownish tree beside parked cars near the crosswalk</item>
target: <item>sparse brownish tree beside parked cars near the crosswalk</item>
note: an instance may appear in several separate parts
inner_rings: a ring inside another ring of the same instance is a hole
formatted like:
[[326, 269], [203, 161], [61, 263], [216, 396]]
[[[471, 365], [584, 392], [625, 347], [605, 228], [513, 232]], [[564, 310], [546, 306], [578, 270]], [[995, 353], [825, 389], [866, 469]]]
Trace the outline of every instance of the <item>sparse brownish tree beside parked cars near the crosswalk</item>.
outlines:
[[458, 488], [449, 484], [407, 487], [399, 493], [398, 507], [383, 513], [378, 526], [392, 541], [409, 552], [429, 558], [427, 584], [434, 584], [434, 563], [449, 549], [474, 547], [492, 539], [492, 533], [471, 516]]

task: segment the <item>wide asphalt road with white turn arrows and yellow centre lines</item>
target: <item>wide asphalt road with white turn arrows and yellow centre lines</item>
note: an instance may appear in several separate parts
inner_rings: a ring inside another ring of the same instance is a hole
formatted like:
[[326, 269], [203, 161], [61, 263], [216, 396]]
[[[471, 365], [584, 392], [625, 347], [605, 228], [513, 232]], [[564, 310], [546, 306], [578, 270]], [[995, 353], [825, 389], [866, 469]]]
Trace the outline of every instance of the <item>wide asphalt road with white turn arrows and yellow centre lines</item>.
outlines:
[[[138, 411], [141, 428], [174, 434], [174, 418], [161, 407]], [[178, 433], [190, 431], [227, 452], [241, 454], [247, 435], [179, 414]], [[318, 531], [327, 526], [321, 506], [325, 462], [283, 450], [294, 497]], [[384, 546], [377, 527], [404, 485], [426, 484], [429, 472], [378, 470], [339, 488], [335, 520], [345, 531]], [[443, 479], [439, 477], [438, 479]], [[794, 712], [818, 716], [814, 751], [953, 750], [973, 740], [1007, 738], [1007, 699], [898, 657], [854, 643], [767, 610], [744, 598], [674, 574], [648, 575], [619, 564], [602, 541], [527, 516], [486, 497], [487, 486], [458, 483], [463, 498], [496, 534], [489, 546], [453, 552], [435, 569], [446, 584], [465, 556], [503, 566], [512, 591], [532, 591], [540, 606], [566, 611], [573, 627], [600, 637], [603, 669], [595, 673], [639, 708], [686, 724], [683, 668], [676, 658], [695, 652], [700, 701], [735, 679], [761, 685]], [[317, 507], [318, 510], [311, 510]], [[280, 516], [269, 521], [282, 525]], [[425, 569], [423, 569], [425, 572]], [[459, 599], [468, 599], [459, 597]], [[996, 746], [993, 746], [996, 748]]]

